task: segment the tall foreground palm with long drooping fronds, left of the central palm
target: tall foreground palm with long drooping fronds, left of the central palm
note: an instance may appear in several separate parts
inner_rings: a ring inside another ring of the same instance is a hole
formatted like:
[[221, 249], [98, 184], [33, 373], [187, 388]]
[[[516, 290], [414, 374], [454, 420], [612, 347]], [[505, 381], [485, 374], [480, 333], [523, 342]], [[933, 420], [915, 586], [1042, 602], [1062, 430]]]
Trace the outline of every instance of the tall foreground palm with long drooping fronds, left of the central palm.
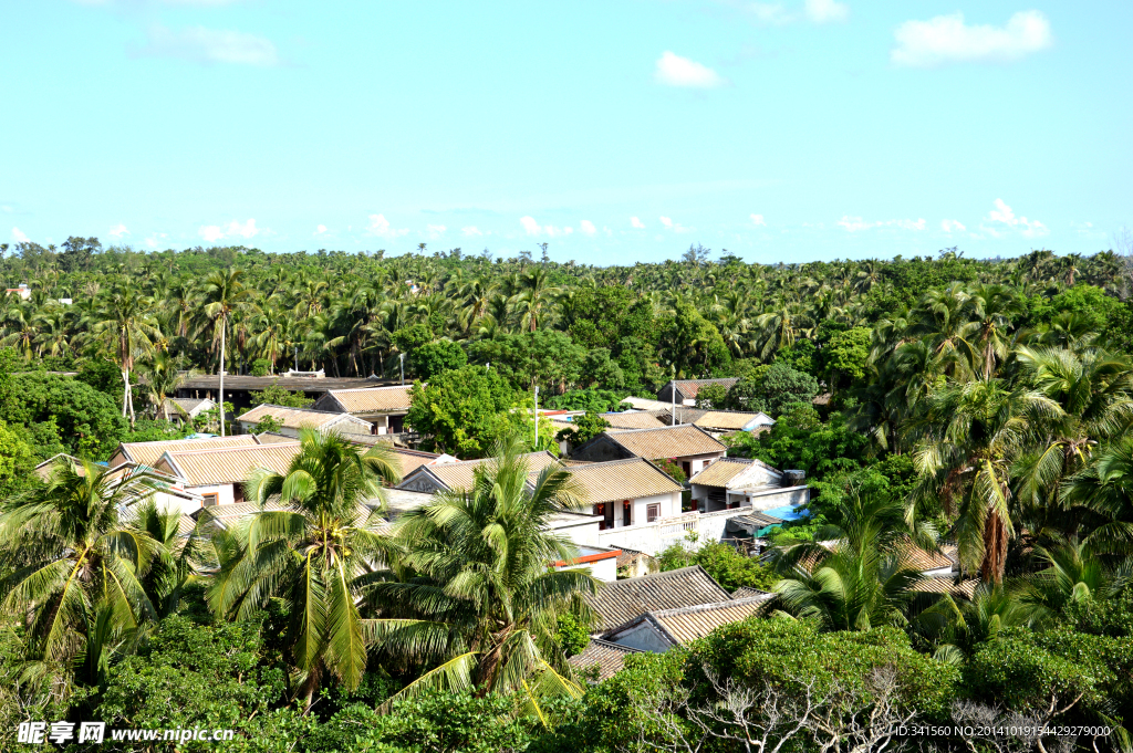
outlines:
[[278, 596], [289, 605], [286, 641], [304, 674], [310, 709], [325, 671], [353, 690], [366, 669], [358, 600], [368, 577], [394, 548], [384, 521], [367, 503], [382, 503], [382, 484], [397, 484], [382, 445], [363, 450], [337, 434], [304, 429], [287, 472], [254, 471], [247, 497], [263, 506], [279, 496], [283, 510], [252, 515], [220, 544], [221, 568], [208, 605], [244, 619]]

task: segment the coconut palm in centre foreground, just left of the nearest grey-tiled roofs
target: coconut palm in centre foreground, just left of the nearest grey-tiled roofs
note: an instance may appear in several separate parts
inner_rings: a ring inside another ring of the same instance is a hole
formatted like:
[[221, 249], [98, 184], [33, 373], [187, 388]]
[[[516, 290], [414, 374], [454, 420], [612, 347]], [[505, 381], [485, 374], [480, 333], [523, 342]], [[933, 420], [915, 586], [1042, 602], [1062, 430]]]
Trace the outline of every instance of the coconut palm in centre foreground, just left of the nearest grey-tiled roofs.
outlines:
[[555, 626], [568, 610], [589, 617], [581, 597], [597, 582], [580, 570], [548, 567], [578, 555], [547, 523], [583, 500], [557, 467], [528, 486], [521, 448], [521, 439], [510, 437], [470, 490], [437, 495], [398, 525], [408, 576], [374, 585], [385, 610], [375, 628], [385, 652], [441, 662], [399, 696], [477, 687], [482, 694], [522, 693], [538, 712], [542, 694], [581, 694]]

